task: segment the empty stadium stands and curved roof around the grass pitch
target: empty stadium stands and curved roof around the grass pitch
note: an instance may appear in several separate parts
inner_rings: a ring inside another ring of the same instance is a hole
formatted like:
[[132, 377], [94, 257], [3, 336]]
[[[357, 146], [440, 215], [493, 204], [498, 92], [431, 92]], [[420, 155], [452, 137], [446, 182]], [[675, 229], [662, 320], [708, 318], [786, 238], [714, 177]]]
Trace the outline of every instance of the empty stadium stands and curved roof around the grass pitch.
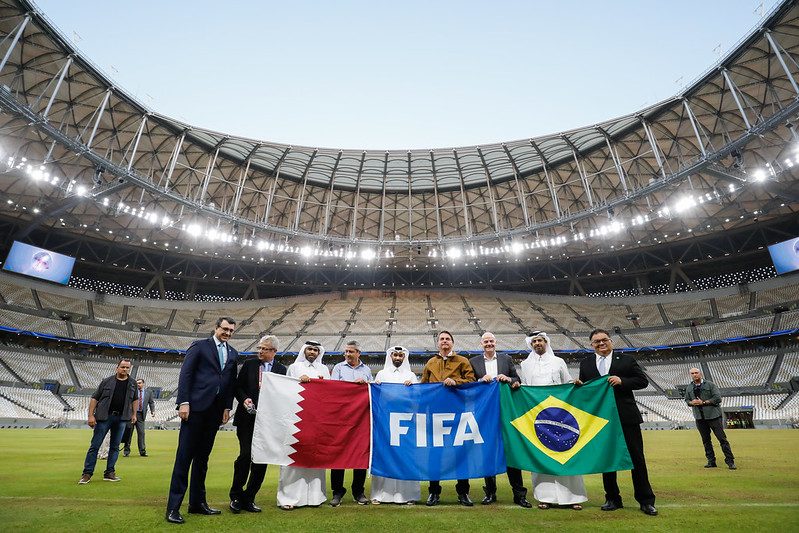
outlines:
[[[433, 150], [287, 146], [159, 114], [25, 0], [0, 0], [0, 257], [76, 259], [66, 286], [0, 273], [0, 427], [85, 426], [120, 357], [176, 428], [186, 348], [237, 321], [284, 362], [358, 340], [419, 373], [449, 330], [516, 361], [549, 332], [573, 375], [605, 328], [650, 379], [645, 428], [691, 425], [699, 367], [731, 427], [799, 423], [799, 7], [785, 1], [680, 94], [533, 139]], [[575, 376], [576, 377], [576, 376]]]

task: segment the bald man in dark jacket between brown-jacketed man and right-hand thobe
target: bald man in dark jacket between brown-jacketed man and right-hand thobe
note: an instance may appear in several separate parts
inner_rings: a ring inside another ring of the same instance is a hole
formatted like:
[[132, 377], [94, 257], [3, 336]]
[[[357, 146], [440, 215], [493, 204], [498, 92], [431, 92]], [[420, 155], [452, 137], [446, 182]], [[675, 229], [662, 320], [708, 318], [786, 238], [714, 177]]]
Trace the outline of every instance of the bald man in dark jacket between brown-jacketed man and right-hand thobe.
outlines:
[[[509, 355], [497, 353], [497, 338], [494, 334], [490, 331], [483, 333], [480, 338], [480, 344], [483, 345], [483, 354], [469, 359], [477, 381], [492, 381], [496, 379], [503, 383], [510, 383], [511, 387], [518, 387], [521, 384], [521, 380], [516, 372], [513, 359]], [[524, 481], [522, 480], [522, 471], [509, 466], [507, 474], [513, 490], [513, 503], [521, 507], [532, 507], [532, 504], [527, 501], [527, 489], [524, 487]], [[488, 505], [497, 501], [497, 477], [489, 476], [484, 478], [484, 480], [485, 487], [483, 487], [483, 491], [486, 495], [480, 503]]]

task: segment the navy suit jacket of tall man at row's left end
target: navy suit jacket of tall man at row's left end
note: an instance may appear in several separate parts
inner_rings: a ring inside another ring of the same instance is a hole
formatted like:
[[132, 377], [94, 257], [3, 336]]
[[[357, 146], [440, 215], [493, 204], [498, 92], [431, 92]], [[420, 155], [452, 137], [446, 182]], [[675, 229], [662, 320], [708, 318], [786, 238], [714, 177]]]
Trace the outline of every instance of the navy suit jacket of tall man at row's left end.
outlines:
[[225, 368], [219, 366], [219, 352], [214, 337], [194, 341], [186, 350], [180, 367], [177, 404], [189, 402], [192, 412], [205, 411], [217, 395], [226, 409], [233, 407], [233, 388], [236, 381], [236, 360], [239, 352], [228, 344]]

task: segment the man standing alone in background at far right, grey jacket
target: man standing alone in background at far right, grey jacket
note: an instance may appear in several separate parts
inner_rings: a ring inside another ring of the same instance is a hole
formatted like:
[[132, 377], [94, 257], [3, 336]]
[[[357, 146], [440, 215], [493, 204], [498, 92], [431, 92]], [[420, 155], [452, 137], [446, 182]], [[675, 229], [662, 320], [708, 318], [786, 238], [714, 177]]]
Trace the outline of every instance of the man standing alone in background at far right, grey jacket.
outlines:
[[716, 468], [716, 452], [713, 450], [713, 442], [710, 440], [710, 432], [713, 431], [721, 445], [721, 451], [724, 452], [724, 462], [727, 463], [727, 468], [737, 470], [735, 456], [732, 454], [730, 442], [724, 433], [724, 416], [721, 412], [719, 388], [712, 381], [702, 379], [702, 371], [698, 368], [692, 368], [688, 373], [691, 375], [691, 384], [685, 388], [685, 401], [693, 408], [696, 429], [699, 430], [702, 444], [705, 446], [705, 457], [707, 457], [705, 468]]

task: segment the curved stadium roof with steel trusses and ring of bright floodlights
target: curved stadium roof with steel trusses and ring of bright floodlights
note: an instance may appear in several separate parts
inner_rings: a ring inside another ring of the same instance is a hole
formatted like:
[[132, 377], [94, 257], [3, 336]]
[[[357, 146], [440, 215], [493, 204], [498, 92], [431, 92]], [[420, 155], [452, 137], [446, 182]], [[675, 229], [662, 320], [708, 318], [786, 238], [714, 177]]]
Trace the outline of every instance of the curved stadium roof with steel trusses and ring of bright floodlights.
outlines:
[[0, 39], [0, 195], [19, 239], [50, 230], [200, 257], [222, 243], [256, 265], [479, 266], [644, 249], [799, 206], [791, 1], [669, 100], [434, 150], [288, 146], [163, 116], [28, 1], [0, 0]]

